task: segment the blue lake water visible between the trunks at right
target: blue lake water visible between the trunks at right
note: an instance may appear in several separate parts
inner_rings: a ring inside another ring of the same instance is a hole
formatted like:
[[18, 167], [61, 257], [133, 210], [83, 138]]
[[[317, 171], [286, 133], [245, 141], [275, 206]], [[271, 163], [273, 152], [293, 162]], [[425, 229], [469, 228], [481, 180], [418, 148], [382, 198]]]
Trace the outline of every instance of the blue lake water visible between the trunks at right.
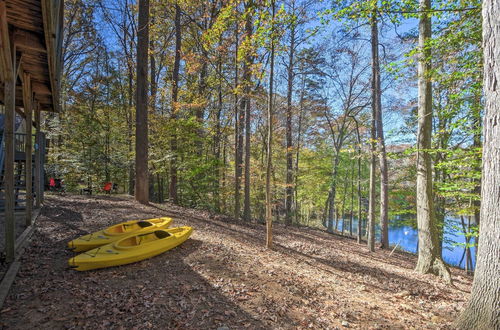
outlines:
[[[335, 222], [333, 224], [335, 227]], [[456, 227], [462, 228], [460, 219], [447, 218], [443, 239], [443, 260], [452, 265], [465, 269], [466, 258], [464, 257], [465, 251], [465, 236]], [[357, 235], [358, 219], [353, 220], [353, 234]], [[342, 230], [342, 219], [339, 219], [339, 231]], [[346, 219], [344, 231], [349, 232], [349, 219]], [[376, 226], [375, 236], [377, 241], [380, 239], [380, 227]], [[416, 228], [407, 225], [401, 225], [401, 221], [393, 219], [389, 222], [389, 243], [395, 246], [399, 243], [399, 248], [402, 250], [416, 253], [418, 242], [418, 231]], [[461, 244], [461, 245], [457, 245]], [[475, 248], [471, 249], [472, 264], [475, 266]]]

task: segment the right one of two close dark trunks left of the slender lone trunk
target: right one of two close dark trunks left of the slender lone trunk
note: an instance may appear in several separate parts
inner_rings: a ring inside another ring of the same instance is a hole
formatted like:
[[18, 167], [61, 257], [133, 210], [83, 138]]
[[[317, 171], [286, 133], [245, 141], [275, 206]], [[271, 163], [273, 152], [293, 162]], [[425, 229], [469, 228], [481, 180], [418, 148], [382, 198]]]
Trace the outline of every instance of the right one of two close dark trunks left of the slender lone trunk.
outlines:
[[[250, 42], [252, 39], [252, 30], [253, 30], [253, 20], [251, 15], [251, 8], [253, 6], [253, 2], [249, 1], [246, 10], [247, 17], [245, 21], [245, 33], [246, 38]], [[247, 54], [245, 56], [245, 64], [243, 67], [243, 79], [245, 81], [245, 200], [244, 200], [244, 209], [243, 209], [243, 218], [246, 221], [250, 221], [250, 86], [252, 79], [252, 54], [250, 50], [247, 50]]]

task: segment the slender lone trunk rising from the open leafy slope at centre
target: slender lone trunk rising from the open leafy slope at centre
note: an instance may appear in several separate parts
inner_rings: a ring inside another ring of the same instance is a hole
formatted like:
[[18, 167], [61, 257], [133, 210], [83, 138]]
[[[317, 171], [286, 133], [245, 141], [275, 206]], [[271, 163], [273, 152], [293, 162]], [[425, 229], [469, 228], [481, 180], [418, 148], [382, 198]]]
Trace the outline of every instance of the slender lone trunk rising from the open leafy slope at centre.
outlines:
[[273, 213], [271, 194], [271, 174], [273, 168], [273, 87], [274, 87], [274, 1], [271, 22], [271, 68], [269, 73], [269, 97], [267, 101], [267, 164], [266, 164], [266, 247], [273, 247]]

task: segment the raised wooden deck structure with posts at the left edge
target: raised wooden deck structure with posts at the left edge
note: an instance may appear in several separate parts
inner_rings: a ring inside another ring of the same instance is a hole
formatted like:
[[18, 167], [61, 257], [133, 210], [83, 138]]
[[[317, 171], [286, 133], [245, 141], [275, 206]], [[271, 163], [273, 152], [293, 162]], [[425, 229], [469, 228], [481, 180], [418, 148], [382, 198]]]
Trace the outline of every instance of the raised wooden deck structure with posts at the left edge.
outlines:
[[0, 0], [0, 226], [8, 262], [15, 258], [21, 201], [26, 228], [43, 201], [40, 118], [59, 111], [63, 6], [63, 0]]

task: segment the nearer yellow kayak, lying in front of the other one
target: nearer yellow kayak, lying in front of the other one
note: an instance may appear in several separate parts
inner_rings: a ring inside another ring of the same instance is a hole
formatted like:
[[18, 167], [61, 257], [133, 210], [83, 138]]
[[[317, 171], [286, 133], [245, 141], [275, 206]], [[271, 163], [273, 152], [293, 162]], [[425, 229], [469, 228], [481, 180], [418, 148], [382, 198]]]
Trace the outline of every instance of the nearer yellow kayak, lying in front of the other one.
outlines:
[[192, 232], [193, 228], [187, 226], [151, 230], [81, 253], [68, 263], [79, 271], [130, 264], [173, 249], [187, 240]]

